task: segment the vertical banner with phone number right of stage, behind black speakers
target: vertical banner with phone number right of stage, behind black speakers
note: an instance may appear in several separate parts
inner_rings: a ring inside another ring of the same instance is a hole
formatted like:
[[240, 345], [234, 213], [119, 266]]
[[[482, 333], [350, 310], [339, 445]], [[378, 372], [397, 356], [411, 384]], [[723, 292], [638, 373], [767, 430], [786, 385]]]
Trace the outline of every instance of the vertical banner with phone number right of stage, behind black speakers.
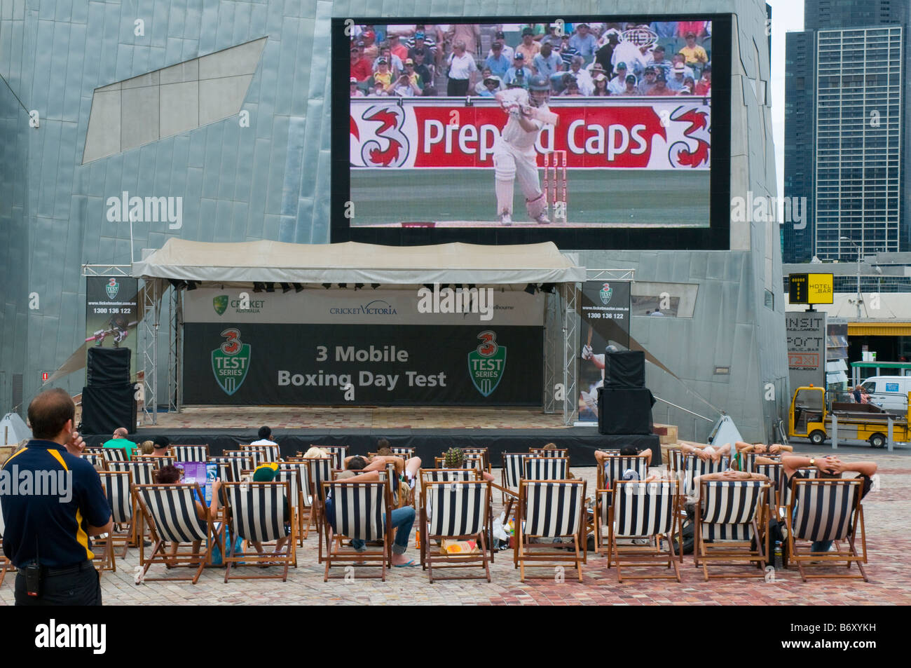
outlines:
[[604, 385], [604, 349], [630, 347], [630, 283], [582, 283], [579, 313], [578, 421], [598, 422], [598, 388]]

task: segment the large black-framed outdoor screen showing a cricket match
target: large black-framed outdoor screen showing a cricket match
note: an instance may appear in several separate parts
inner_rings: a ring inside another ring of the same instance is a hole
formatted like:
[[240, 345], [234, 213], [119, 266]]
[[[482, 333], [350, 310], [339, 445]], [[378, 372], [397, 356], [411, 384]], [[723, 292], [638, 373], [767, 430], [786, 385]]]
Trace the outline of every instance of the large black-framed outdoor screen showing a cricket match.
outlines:
[[729, 247], [730, 15], [412, 20], [333, 25], [333, 242]]

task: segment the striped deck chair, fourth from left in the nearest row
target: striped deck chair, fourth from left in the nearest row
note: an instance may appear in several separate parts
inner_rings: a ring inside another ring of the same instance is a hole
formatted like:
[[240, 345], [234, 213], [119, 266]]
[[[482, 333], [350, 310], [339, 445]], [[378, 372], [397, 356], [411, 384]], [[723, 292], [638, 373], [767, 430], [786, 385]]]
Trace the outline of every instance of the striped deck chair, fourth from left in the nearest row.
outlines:
[[[490, 581], [486, 530], [490, 527], [490, 483], [477, 480], [431, 482], [421, 489], [421, 507], [429, 506], [430, 514], [423, 515], [424, 537], [421, 540], [421, 564], [427, 570], [431, 582], [437, 580], [474, 580], [485, 578]], [[433, 540], [476, 540], [476, 550], [463, 554], [435, 553], [430, 549]], [[470, 568], [480, 563], [484, 574], [469, 576], [434, 575], [437, 570]]]

